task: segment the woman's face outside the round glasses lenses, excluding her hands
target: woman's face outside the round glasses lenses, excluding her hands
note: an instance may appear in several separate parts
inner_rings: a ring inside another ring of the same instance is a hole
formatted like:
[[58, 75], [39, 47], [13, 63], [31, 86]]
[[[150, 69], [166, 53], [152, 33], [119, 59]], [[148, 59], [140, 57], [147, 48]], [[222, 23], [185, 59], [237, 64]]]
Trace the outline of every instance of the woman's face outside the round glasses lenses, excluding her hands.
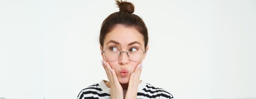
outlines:
[[[117, 25], [112, 31], [110, 31], [110, 33], [106, 35], [103, 46], [103, 51], [105, 51], [105, 49], [109, 46], [116, 46], [120, 51], [128, 51], [133, 46], [139, 46], [145, 52], [143, 35], [135, 28], [125, 27], [122, 25]], [[148, 50], [148, 46], [146, 49]], [[134, 72], [135, 67], [146, 57], [145, 53], [142, 59], [133, 62], [129, 59], [126, 53], [121, 53], [119, 59], [111, 62], [104, 57], [103, 53], [101, 53], [101, 55], [103, 60], [108, 62], [111, 68], [115, 70], [119, 83], [121, 84], [127, 84], [129, 82], [130, 75]], [[127, 75], [120, 73], [126, 70], [128, 72]]]

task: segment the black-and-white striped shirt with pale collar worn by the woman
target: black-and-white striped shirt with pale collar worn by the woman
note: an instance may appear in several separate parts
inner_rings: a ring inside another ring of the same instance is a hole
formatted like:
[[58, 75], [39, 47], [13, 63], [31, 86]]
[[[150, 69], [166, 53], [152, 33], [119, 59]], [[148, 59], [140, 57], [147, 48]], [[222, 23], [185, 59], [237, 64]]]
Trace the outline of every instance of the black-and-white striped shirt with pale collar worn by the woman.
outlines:
[[[111, 99], [110, 88], [105, 84], [106, 80], [93, 84], [81, 90], [77, 99]], [[124, 96], [127, 90], [124, 90]], [[138, 86], [137, 99], [173, 99], [173, 95], [162, 88], [154, 87], [144, 81]]]

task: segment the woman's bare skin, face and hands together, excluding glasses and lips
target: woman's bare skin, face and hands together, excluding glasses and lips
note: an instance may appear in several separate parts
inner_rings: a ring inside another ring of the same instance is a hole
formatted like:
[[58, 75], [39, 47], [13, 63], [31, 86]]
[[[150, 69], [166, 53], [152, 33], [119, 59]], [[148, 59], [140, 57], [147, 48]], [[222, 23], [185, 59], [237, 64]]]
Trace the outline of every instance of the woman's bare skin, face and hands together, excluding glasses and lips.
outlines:
[[[118, 44], [110, 41], [118, 42]], [[137, 43], [128, 46], [132, 42]], [[137, 29], [123, 25], [117, 25], [106, 35], [103, 46], [103, 51], [108, 46], [117, 46], [120, 51], [128, 51], [132, 46], [139, 46], [145, 51], [143, 35]], [[102, 46], [100, 46], [100, 49], [102, 50]], [[146, 46], [146, 49], [148, 51], [148, 46]], [[142, 61], [145, 59], [146, 53], [137, 62], [131, 61], [126, 53], [121, 53], [121, 56], [115, 62], [108, 61], [103, 53], [101, 53], [101, 56], [103, 59], [101, 64], [109, 79], [105, 84], [108, 88], [111, 88], [111, 99], [123, 99], [123, 90], [127, 90], [125, 99], [136, 99], [138, 85], [141, 82], [139, 78], [143, 67]], [[122, 68], [128, 70], [126, 77], [122, 77], [119, 73]]]

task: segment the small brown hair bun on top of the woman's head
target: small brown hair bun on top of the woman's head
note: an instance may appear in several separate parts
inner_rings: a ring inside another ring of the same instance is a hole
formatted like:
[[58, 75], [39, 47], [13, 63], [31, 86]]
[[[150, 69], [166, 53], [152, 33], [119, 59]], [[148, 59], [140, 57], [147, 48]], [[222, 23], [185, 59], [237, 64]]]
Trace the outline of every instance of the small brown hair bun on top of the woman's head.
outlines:
[[119, 7], [119, 12], [127, 12], [127, 13], [133, 13], [134, 12], [134, 5], [131, 2], [126, 1], [119, 1], [116, 0], [116, 4]]

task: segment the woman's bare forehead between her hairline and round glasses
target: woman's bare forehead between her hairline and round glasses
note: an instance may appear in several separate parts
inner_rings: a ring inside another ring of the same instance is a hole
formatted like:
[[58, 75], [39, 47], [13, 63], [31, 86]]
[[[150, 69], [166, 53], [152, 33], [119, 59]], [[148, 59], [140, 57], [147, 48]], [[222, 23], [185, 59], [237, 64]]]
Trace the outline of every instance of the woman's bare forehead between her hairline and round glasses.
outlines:
[[110, 31], [104, 40], [104, 46], [110, 40], [119, 42], [121, 46], [127, 46], [131, 42], [139, 42], [141, 46], [144, 46], [143, 35], [137, 31], [137, 29], [132, 27], [126, 27], [122, 25], [117, 25], [112, 31]]

